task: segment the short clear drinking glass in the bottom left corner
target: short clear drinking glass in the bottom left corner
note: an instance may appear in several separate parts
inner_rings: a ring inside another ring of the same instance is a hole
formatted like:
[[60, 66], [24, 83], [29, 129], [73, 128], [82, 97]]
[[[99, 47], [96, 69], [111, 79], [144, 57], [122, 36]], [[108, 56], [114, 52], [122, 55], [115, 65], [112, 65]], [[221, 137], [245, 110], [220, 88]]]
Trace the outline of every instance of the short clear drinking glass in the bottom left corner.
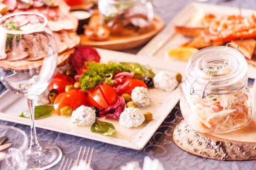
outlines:
[[0, 126], [0, 138], [6, 136], [2, 143], [12, 142], [12, 146], [0, 152], [0, 170], [25, 170], [27, 167], [26, 151], [28, 136], [22, 130], [12, 126]]

